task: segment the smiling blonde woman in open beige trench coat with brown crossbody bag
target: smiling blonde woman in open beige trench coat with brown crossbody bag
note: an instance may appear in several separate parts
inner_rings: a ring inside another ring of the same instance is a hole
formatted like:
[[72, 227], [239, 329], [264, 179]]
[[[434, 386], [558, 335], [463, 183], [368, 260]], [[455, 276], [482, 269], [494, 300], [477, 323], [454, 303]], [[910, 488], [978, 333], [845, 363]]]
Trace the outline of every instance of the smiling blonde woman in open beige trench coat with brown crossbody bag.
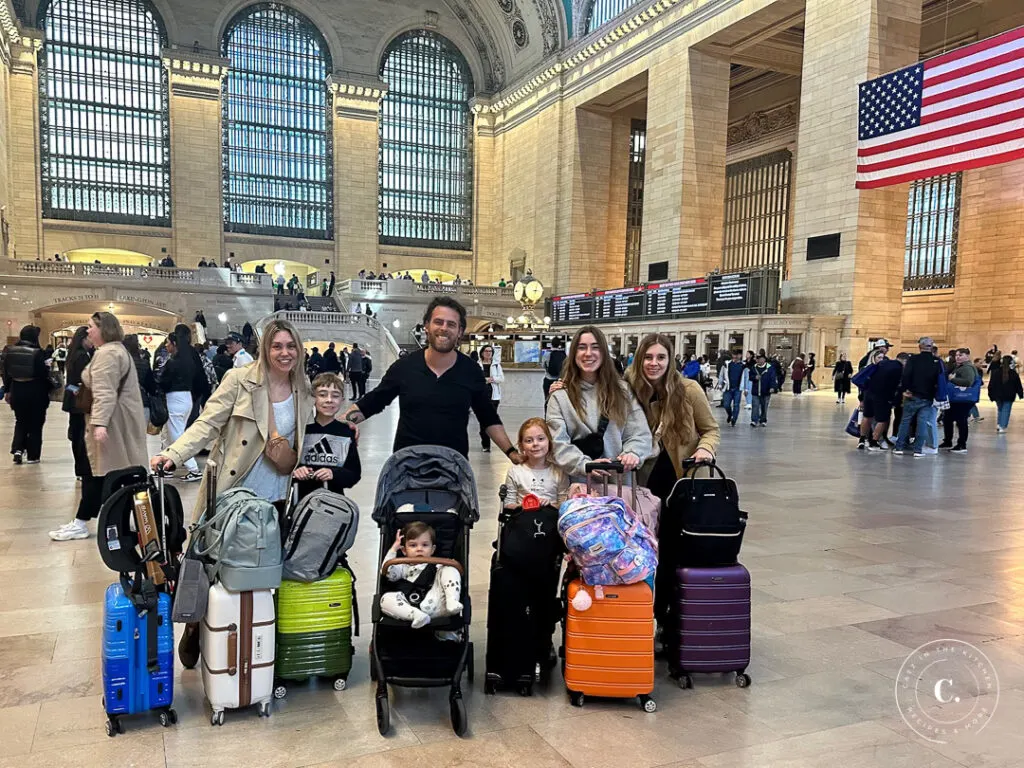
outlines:
[[[172, 471], [212, 444], [216, 496], [246, 487], [270, 502], [285, 500], [313, 411], [302, 349], [302, 337], [291, 323], [268, 323], [260, 337], [259, 359], [224, 375], [196, 422], [150, 460], [153, 470]], [[205, 509], [208, 482], [209, 476], [204, 477], [200, 485], [194, 521]], [[199, 625], [187, 626], [178, 655], [186, 668], [196, 666]]]

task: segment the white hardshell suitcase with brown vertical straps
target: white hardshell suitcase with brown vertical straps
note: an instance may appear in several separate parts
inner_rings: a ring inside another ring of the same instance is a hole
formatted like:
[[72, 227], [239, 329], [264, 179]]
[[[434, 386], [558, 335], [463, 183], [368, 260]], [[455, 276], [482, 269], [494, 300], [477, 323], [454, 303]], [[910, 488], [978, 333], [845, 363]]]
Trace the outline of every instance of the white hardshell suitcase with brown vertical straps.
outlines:
[[220, 583], [210, 587], [200, 645], [212, 725], [223, 724], [224, 710], [251, 705], [259, 705], [260, 717], [270, 715], [274, 624], [270, 590], [228, 592]]

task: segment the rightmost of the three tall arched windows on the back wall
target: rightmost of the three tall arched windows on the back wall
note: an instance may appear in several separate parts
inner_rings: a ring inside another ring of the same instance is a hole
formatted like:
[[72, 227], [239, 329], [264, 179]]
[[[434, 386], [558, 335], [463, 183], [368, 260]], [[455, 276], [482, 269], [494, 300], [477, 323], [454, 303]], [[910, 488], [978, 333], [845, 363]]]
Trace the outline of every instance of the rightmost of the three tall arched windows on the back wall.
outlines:
[[407, 32], [381, 63], [380, 242], [468, 250], [472, 242], [473, 77], [449, 40]]

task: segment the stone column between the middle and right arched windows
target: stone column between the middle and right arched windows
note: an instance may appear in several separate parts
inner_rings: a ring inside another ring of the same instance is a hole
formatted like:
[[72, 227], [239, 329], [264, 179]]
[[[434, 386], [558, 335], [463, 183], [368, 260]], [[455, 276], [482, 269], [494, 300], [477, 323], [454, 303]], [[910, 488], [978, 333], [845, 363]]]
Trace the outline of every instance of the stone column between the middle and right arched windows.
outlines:
[[351, 73], [331, 76], [334, 96], [334, 264], [339, 279], [378, 266], [380, 102], [387, 86]]

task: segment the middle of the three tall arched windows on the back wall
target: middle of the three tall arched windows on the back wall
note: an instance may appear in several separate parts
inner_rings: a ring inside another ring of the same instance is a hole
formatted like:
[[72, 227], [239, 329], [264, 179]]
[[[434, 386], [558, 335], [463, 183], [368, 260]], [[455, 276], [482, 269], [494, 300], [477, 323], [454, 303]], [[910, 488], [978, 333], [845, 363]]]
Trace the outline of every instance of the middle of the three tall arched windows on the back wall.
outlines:
[[334, 234], [331, 53], [308, 18], [252, 5], [224, 33], [224, 229]]

